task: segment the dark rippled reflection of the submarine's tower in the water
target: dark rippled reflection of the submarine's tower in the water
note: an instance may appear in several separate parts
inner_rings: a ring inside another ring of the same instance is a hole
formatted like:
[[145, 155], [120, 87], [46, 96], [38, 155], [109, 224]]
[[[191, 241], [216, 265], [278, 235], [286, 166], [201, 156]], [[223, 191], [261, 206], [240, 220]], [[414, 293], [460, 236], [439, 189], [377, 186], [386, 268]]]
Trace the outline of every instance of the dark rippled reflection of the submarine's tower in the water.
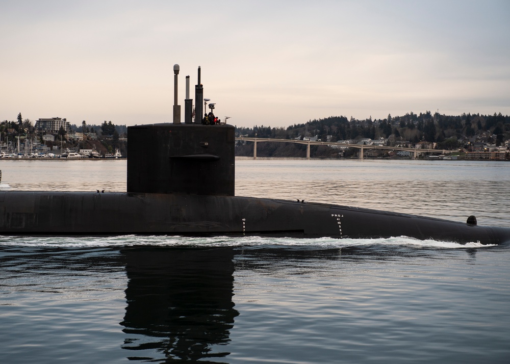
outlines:
[[[233, 248], [143, 247], [122, 251], [127, 307], [120, 323], [131, 360], [225, 357], [234, 309]], [[158, 354], [158, 355], [160, 355]], [[218, 362], [218, 361], [215, 361]]]

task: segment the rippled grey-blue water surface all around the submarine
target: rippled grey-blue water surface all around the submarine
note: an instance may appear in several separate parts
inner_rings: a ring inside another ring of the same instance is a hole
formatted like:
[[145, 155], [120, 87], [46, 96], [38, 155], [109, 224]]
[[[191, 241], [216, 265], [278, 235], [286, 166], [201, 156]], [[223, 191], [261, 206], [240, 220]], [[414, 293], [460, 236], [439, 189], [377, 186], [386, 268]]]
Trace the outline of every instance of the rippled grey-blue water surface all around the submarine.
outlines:
[[[125, 161], [0, 161], [16, 190], [125, 191]], [[236, 195], [510, 226], [510, 164], [249, 160]], [[2, 363], [510, 362], [508, 246], [0, 237]]]

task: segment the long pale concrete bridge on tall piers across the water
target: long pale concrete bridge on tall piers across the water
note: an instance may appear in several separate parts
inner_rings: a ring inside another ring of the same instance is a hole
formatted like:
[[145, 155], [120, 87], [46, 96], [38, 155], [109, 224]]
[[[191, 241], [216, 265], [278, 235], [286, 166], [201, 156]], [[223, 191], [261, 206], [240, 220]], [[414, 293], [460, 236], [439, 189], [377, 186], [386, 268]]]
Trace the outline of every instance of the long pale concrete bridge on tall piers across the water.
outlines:
[[[315, 142], [311, 140], [296, 140], [296, 139], [274, 139], [274, 138], [245, 138], [239, 137], [236, 140], [242, 140], [246, 142], [253, 142], [253, 159], [257, 159], [257, 143], [262, 142], [279, 142], [279, 143], [295, 143], [295, 144], [306, 144], [307, 145], [307, 159], [310, 159], [310, 146], [311, 145], [327, 145], [327, 146], [341, 146], [351, 147], [360, 149], [360, 159], [363, 159], [363, 152], [365, 149], [390, 149], [390, 150], [404, 150], [412, 152], [413, 159], [418, 157], [418, 153], [440, 153], [444, 154], [446, 150], [439, 149], [420, 149], [420, 148], [403, 148], [403, 147], [388, 147], [378, 145], [363, 145], [363, 144], [349, 144], [349, 143], [333, 143], [333, 142]], [[451, 150], [450, 150], [451, 152]]]

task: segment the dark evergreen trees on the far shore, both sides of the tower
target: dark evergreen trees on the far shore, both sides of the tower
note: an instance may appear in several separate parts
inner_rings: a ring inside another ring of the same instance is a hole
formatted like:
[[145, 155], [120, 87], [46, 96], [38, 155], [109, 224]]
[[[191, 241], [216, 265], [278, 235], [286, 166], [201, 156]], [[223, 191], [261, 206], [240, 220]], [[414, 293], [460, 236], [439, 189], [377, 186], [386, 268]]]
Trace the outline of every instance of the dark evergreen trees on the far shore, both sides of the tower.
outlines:
[[[101, 144], [111, 151], [119, 147], [122, 152], [126, 149], [125, 142], [119, 142], [121, 138], [127, 137], [126, 125], [115, 125], [112, 121], [104, 121], [100, 125], [87, 124], [85, 121], [81, 125], [70, 124], [73, 132], [84, 134], [95, 133], [98, 135]], [[14, 134], [34, 136], [35, 130], [31, 120], [23, 119], [21, 113], [18, 114], [16, 121], [5, 120], [0, 123], [0, 133], [7, 134], [11, 131]], [[60, 131], [62, 138], [65, 137], [65, 131]], [[355, 119], [352, 116], [330, 116], [323, 119], [309, 120], [305, 123], [293, 124], [288, 127], [270, 127], [258, 126], [237, 127], [236, 136], [258, 137], [258, 138], [276, 138], [276, 139], [303, 139], [317, 137], [322, 141], [343, 141], [359, 140], [370, 138], [376, 140], [379, 138], [387, 139], [387, 145], [395, 145], [402, 141], [411, 144], [420, 141], [436, 143], [438, 149], [453, 150], [465, 145], [470, 140], [479, 138], [483, 142], [496, 144], [500, 146], [505, 140], [510, 139], [510, 117], [503, 116], [501, 113], [493, 115], [480, 114], [462, 114], [462, 115], [441, 115], [432, 114], [430, 111], [415, 114], [406, 113], [403, 116], [388, 115], [384, 119]], [[42, 138], [42, 136], [40, 136]], [[274, 145], [271, 145], [274, 144]], [[297, 149], [303, 149], [305, 146], [287, 143], [264, 143], [262, 147], [267, 149], [264, 154], [288, 157], [294, 155]], [[316, 155], [327, 157], [334, 151], [326, 146], [317, 147]], [[251, 147], [238, 145], [236, 154], [250, 155]]]

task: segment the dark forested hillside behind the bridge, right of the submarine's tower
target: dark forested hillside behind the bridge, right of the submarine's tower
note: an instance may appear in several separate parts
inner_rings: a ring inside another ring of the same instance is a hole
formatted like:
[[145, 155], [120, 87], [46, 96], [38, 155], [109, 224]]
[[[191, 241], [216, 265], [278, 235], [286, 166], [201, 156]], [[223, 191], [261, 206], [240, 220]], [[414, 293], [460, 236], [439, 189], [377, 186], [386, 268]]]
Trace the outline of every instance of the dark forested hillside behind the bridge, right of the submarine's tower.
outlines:
[[[388, 145], [409, 144], [420, 141], [436, 143], [438, 149], [457, 149], [469, 141], [482, 141], [497, 146], [510, 139], [510, 117], [501, 113], [493, 115], [462, 114], [441, 115], [430, 111], [403, 116], [388, 115], [385, 119], [365, 120], [330, 116], [314, 119], [302, 124], [284, 127], [253, 126], [252, 128], [236, 127], [236, 136], [278, 139], [317, 138], [321, 141], [359, 140], [363, 138], [388, 139]], [[259, 155], [288, 157], [303, 146], [278, 143], [265, 145], [262, 143]], [[321, 150], [324, 149], [324, 150]], [[318, 156], [330, 154], [327, 147], [318, 147]], [[252, 147], [239, 146], [237, 155], [252, 155]]]

